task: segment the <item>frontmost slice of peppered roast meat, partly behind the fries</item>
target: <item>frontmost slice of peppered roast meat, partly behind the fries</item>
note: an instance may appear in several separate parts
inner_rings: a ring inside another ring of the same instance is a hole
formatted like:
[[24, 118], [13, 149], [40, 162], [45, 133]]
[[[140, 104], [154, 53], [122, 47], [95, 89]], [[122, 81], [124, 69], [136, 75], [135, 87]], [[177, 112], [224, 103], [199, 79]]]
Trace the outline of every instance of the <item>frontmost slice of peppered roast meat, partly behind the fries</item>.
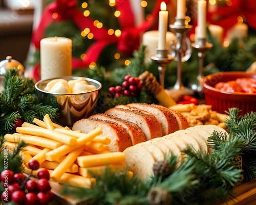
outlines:
[[132, 146], [132, 140], [127, 131], [116, 122], [99, 119], [81, 119], [74, 123], [72, 130], [80, 130], [82, 133], [89, 133], [100, 127], [101, 136], [111, 139], [109, 144], [111, 151], [123, 151]]

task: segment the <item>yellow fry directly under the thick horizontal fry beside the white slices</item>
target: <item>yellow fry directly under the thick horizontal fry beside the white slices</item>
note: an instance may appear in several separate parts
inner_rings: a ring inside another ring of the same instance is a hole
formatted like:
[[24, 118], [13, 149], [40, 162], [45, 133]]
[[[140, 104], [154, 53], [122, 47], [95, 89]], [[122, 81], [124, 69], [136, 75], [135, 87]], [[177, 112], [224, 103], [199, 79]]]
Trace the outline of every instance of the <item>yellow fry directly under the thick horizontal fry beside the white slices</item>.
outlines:
[[79, 167], [78, 173], [83, 177], [93, 177], [92, 174], [97, 174], [99, 176], [102, 176], [102, 173], [104, 173], [107, 167], [111, 172], [114, 172], [117, 170], [121, 171], [125, 168], [125, 163], [109, 164], [109, 165], [102, 165], [102, 166], [96, 166], [96, 167]]

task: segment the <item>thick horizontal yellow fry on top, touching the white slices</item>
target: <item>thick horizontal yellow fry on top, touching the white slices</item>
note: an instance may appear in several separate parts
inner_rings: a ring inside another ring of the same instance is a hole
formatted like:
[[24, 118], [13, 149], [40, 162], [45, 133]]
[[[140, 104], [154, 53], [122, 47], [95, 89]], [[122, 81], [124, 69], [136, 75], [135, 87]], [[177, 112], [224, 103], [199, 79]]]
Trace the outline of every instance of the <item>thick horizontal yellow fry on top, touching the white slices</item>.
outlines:
[[125, 154], [121, 151], [77, 157], [77, 163], [80, 167], [94, 167], [122, 162], [125, 162]]

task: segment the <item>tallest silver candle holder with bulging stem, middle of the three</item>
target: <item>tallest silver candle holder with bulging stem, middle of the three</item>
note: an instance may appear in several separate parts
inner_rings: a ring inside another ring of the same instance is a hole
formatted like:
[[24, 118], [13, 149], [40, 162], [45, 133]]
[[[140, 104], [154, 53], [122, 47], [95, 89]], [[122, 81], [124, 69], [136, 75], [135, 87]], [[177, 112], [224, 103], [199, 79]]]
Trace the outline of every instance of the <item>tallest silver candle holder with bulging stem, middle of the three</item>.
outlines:
[[176, 33], [176, 39], [170, 42], [170, 55], [178, 62], [177, 65], [177, 80], [173, 87], [175, 90], [184, 90], [182, 83], [182, 63], [191, 57], [192, 47], [187, 31], [192, 28], [192, 25], [185, 23], [185, 18], [176, 18], [174, 24], [170, 24], [169, 28]]

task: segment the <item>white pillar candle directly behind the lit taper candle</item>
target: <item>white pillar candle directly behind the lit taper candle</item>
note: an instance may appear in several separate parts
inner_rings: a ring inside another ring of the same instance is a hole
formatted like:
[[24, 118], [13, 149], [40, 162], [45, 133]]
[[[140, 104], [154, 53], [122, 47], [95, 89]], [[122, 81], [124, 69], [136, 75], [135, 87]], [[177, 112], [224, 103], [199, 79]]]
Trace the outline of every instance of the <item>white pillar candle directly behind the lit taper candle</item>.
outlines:
[[[146, 46], [145, 49], [145, 61], [151, 62], [150, 56], [157, 54], [157, 45], [159, 39], [159, 32], [157, 30], [147, 31], [142, 35], [142, 44]], [[166, 32], [165, 47], [169, 49], [170, 41], [175, 39], [175, 34], [172, 32]]]

